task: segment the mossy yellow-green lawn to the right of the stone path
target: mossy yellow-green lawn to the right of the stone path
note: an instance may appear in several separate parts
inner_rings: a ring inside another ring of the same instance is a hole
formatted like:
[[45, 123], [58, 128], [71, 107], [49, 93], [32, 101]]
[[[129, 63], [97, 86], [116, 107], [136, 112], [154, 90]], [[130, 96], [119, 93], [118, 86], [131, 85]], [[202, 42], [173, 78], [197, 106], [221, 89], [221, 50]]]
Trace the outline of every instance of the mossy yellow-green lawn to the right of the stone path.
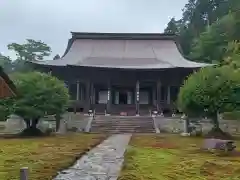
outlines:
[[[237, 180], [240, 156], [203, 152], [203, 139], [136, 135], [125, 153], [118, 180]], [[240, 151], [240, 141], [236, 143]]]

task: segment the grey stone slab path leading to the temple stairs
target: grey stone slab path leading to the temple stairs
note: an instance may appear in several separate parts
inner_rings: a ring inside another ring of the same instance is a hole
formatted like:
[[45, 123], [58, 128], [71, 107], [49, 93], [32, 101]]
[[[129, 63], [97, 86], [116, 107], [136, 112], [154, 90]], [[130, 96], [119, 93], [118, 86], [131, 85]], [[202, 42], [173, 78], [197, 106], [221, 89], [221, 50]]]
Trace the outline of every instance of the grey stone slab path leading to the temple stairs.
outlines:
[[130, 134], [113, 135], [54, 180], [117, 180]]

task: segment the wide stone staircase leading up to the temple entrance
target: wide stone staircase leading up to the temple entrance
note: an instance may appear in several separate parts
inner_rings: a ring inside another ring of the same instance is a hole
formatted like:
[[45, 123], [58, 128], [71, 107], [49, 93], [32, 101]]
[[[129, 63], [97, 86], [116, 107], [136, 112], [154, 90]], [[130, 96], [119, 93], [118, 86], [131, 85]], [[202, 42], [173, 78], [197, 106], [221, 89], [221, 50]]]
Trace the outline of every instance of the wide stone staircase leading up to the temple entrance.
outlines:
[[152, 117], [96, 116], [92, 121], [93, 133], [155, 133]]

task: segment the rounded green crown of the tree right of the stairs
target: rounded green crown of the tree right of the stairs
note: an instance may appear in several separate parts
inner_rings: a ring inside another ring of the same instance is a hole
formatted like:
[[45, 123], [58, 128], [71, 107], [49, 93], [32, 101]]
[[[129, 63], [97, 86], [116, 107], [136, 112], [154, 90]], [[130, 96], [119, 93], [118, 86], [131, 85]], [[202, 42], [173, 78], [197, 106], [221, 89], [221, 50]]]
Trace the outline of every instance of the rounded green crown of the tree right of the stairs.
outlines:
[[239, 107], [240, 71], [229, 66], [208, 67], [190, 75], [180, 88], [179, 108], [187, 114], [209, 116]]

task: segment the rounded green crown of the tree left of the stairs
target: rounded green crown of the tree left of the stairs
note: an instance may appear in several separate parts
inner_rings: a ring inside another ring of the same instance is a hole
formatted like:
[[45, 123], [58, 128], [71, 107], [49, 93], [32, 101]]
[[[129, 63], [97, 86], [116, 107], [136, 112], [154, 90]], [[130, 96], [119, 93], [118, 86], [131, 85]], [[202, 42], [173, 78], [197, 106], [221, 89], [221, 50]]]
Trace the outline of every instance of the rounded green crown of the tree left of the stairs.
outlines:
[[11, 78], [18, 96], [1, 100], [5, 109], [12, 108], [11, 113], [34, 119], [65, 111], [69, 101], [68, 89], [57, 78], [39, 72], [15, 73]]

